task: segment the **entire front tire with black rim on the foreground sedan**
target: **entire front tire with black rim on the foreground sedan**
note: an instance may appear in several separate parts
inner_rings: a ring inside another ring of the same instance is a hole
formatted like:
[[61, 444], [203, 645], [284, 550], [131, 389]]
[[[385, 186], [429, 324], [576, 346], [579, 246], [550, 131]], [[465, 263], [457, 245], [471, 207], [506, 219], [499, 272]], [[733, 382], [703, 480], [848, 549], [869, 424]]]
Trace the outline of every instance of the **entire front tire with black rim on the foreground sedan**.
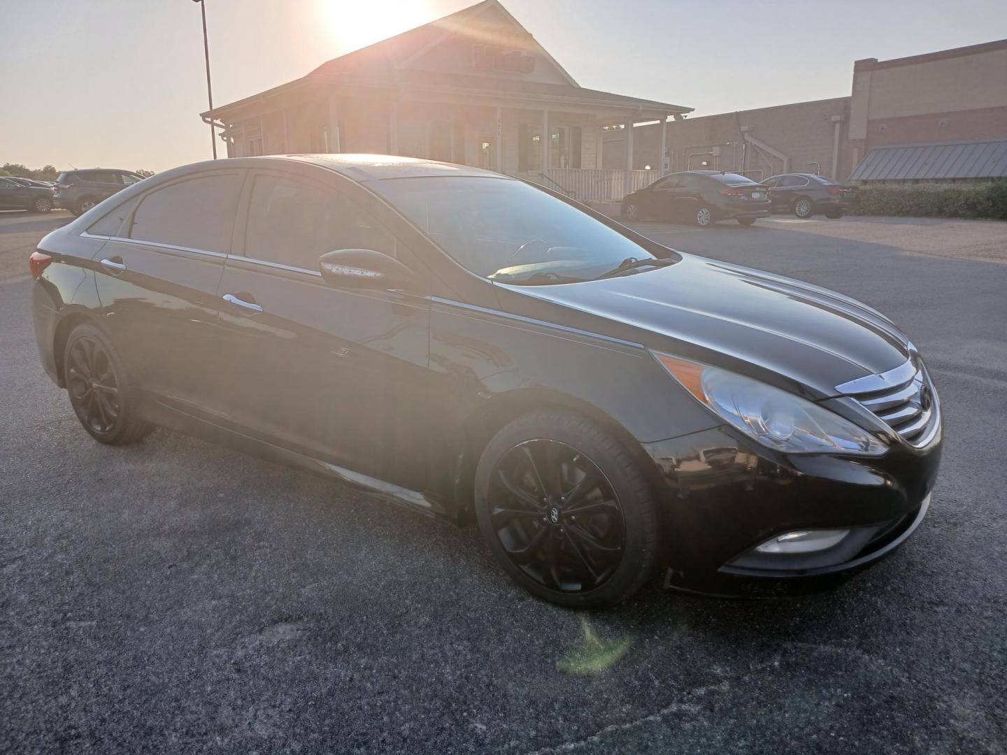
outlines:
[[557, 605], [614, 605], [657, 562], [658, 509], [639, 465], [580, 415], [542, 410], [500, 429], [476, 468], [475, 513], [503, 571]]

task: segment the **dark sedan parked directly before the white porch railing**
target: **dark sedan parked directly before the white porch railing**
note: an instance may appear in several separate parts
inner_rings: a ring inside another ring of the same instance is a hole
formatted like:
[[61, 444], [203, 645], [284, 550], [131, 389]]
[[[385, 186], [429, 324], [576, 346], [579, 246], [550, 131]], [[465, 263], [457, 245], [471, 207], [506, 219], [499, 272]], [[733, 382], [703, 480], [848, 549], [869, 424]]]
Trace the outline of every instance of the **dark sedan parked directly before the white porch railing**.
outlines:
[[765, 186], [739, 173], [717, 170], [672, 173], [622, 199], [622, 216], [627, 220], [654, 217], [701, 228], [717, 220], [751, 225], [769, 212]]

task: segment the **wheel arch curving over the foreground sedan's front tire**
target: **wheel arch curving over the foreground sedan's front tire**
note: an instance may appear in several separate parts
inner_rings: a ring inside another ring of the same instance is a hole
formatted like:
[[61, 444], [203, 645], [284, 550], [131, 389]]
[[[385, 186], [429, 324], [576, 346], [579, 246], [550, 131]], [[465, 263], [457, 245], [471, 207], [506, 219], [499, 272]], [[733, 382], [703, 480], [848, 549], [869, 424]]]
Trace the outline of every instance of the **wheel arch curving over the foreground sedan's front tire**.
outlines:
[[475, 412], [465, 422], [464, 440], [455, 471], [454, 498], [458, 509], [459, 522], [474, 520], [472, 502], [474, 498], [475, 468], [482, 452], [499, 430], [531, 412], [556, 409], [579, 414], [614, 435], [641, 462], [644, 474], [651, 479], [654, 464], [633, 439], [632, 435], [610, 416], [587, 402], [565, 394], [526, 389], [514, 391], [493, 399], [483, 411]]

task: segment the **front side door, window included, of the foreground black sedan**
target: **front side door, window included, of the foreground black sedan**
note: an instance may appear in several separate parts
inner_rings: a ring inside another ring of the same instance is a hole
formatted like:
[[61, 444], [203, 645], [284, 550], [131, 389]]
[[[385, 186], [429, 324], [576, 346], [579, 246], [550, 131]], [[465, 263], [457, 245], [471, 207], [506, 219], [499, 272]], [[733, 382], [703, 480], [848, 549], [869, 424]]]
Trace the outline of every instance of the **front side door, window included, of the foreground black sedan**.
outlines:
[[423, 291], [322, 280], [318, 258], [337, 249], [416, 265], [351, 193], [366, 195], [343, 178], [261, 170], [249, 181], [243, 254], [228, 258], [221, 284], [228, 418], [263, 440], [422, 489], [430, 303]]

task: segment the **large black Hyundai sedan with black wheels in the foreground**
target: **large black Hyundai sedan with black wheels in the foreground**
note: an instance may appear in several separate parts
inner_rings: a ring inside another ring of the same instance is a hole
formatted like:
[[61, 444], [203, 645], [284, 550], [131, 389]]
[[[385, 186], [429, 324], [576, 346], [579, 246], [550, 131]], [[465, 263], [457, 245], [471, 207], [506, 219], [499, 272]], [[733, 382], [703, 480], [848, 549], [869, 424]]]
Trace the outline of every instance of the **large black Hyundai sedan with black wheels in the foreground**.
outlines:
[[31, 256], [42, 364], [108, 444], [154, 425], [477, 520], [567, 606], [774, 595], [890, 553], [941, 411], [875, 310], [443, 163], [199, 163]]

